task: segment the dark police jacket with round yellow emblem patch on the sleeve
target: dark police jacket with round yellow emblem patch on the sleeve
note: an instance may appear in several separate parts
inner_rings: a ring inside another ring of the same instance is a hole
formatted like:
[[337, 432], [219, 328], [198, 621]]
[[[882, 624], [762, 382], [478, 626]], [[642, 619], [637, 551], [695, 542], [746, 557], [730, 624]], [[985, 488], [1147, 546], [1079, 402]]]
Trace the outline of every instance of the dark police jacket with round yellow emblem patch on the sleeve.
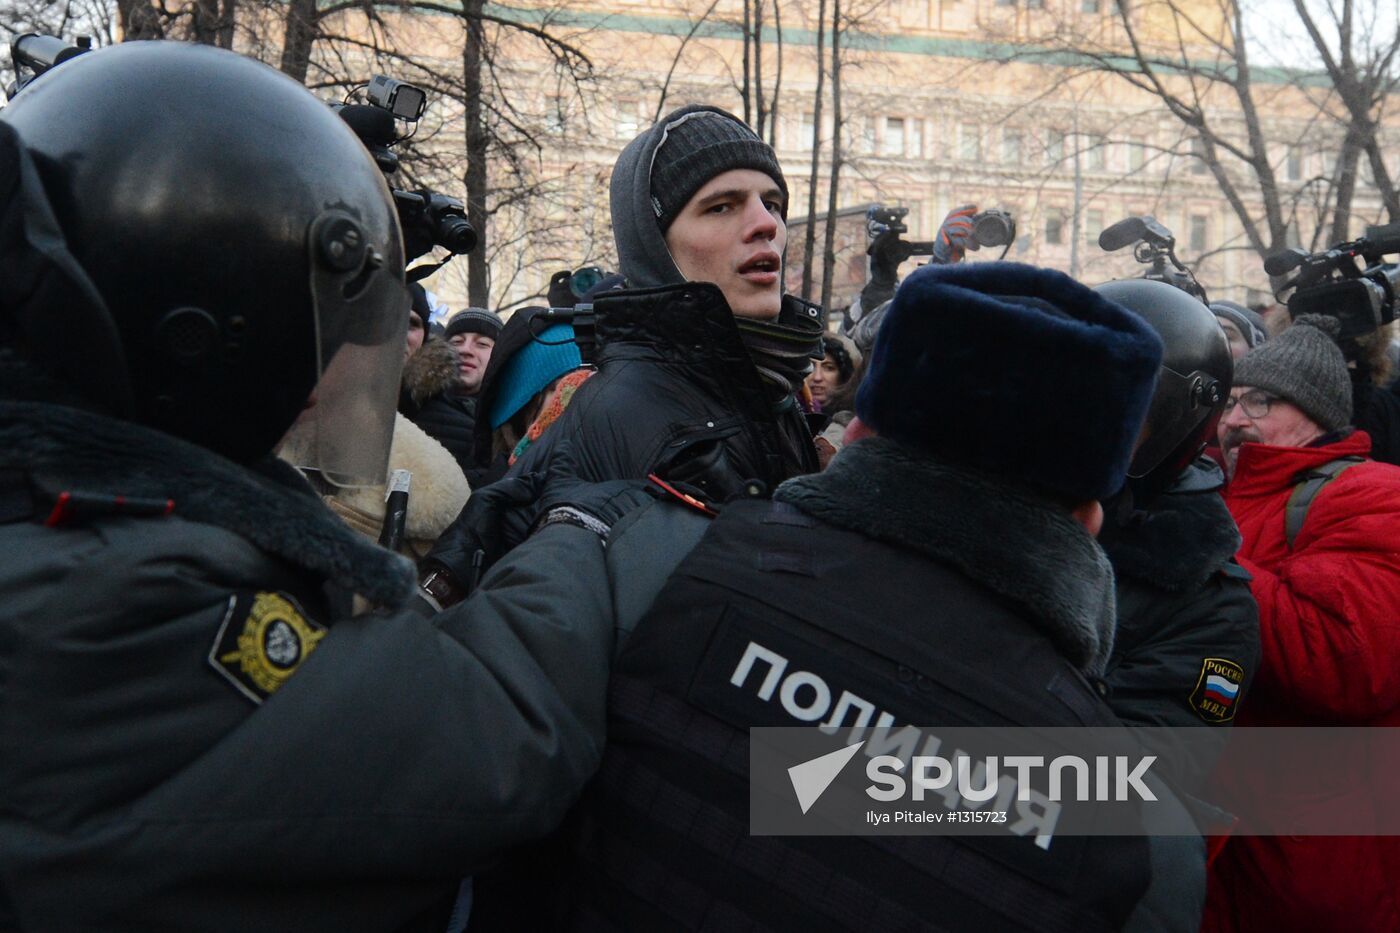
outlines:
[[441, 930], [598, 763], [606, 611], [547, 572], [602, 576], [582, 530], [496, 569], [547, 637], [494, 574], [349, 618], [412, 565], [291, 466], [0, 401], [0, 553], [3, 930]]

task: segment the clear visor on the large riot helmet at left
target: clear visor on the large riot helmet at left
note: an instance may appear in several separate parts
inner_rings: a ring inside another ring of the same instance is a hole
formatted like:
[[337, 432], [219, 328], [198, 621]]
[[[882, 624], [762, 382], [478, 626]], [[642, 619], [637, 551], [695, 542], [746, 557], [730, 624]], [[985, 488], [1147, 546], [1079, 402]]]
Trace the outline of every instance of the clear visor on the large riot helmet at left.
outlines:
[[[318, 237], [312, 233], [311, 249]], [[393, 441], [410, 296], [398, 256], [372, 248], [349, 272], [312, 256], [319, 380], [281, 457], [336, 486], [382, 485]]]

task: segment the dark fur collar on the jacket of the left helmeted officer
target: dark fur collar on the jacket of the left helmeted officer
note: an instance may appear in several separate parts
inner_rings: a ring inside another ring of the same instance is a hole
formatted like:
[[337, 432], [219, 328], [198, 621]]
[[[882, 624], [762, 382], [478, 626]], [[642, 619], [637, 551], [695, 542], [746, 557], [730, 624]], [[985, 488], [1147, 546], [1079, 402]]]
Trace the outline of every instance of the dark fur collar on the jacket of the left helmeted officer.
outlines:
[[172, 499], [176, 516], [231, 531], [378, 605], [398, 608], [413, 594], [410, 562], [343, 525], [301, 474], [270, 455], [245, 468], [140, 424], [0, 398], [0, 469], [22, 469], [45, 488]]

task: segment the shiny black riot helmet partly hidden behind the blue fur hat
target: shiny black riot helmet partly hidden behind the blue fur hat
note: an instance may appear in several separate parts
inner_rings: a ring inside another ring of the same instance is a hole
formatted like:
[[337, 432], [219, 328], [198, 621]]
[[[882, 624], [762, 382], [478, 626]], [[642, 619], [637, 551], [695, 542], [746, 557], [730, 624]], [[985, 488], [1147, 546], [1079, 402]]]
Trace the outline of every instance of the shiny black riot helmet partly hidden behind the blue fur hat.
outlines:
[[1128, 476], [1140, 486], [1165, 489], [1215, 434], [1235, 371], [1229, 343], [1210, 308], [1165, 282], [1124, 279], [1095, 291], [1135, 312], [1162, 338], [1162, 368]]

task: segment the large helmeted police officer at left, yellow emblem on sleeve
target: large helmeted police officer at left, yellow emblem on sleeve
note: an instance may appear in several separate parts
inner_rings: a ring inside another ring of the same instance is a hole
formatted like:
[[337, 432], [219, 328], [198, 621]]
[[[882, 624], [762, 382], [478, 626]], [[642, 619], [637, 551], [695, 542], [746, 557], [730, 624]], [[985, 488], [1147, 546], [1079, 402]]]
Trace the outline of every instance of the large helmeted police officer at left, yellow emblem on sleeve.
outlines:
[[442, 929], [596, 765], [610, 629], [424, 619], [269, 455], [384, 479], [374, 161], [273, 69], [137, 42], [0, 111], [0, 929]]

